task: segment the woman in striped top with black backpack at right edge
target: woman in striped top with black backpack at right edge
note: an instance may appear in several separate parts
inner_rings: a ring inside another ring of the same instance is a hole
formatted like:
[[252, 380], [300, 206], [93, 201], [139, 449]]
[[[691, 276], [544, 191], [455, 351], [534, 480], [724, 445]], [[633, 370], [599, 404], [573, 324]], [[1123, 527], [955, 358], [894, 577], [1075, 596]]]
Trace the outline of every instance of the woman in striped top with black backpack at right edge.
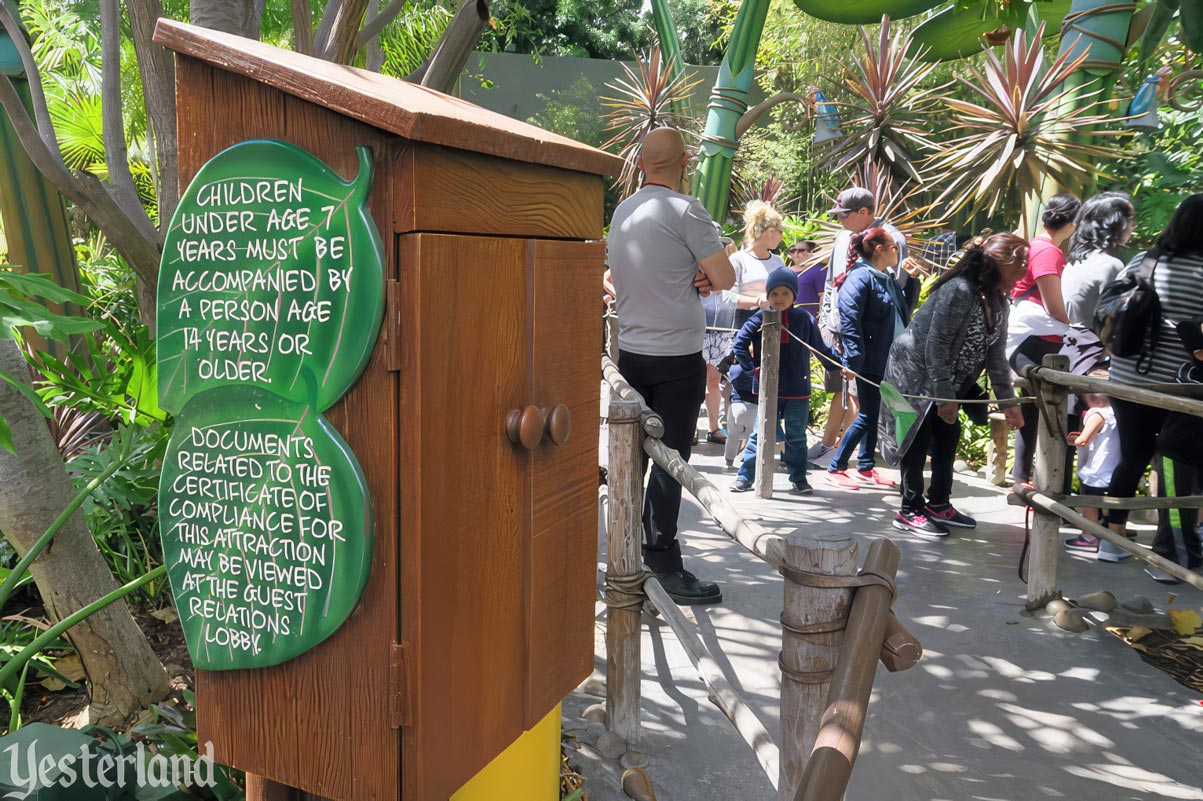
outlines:
[[[1197, 194], [1174, 210], [1152, 250], [1137, 254], [1100, 295], [1103, 342], [1112, 350], [1110, 380], [1154, 388], [1177, 384], [1184, 363], [1195, 357], [1179, 336], [1178, 325], [1201, 314], [1203, 194]], [[1203, 469], [1201, 420], [1121, 398], [1113, 398], [1112, 408], [1119, 429], [1120, 462], [1107, 494], [1133, 497], [1155, 455], [1163, 457], [1167, 494], [1191, 494]], [[1195, 509], [1158, 509], [1154, 553], [1192, 570], [1203, 566], [1196, 517]], [[1113, 532], [1125, 534], [1127, 510], [1112, 510], [1108, 523]], [[1148, 566], [1145, 572], [1155, 581], [1178, 583], [1157, 568]]]

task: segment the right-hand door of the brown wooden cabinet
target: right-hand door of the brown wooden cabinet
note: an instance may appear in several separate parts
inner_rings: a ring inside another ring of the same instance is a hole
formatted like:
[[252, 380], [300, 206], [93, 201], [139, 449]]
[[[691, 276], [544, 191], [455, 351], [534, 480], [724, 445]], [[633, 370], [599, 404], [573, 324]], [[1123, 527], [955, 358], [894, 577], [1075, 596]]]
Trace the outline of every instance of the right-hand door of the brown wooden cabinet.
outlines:
[[[600, 195], [600, 189], [597, 192]], [[532, 399], [568, 404], [573, 431], [532, 462], [526, 726], [593, 670], [602, 243], [529, 243], [533, 273]]]

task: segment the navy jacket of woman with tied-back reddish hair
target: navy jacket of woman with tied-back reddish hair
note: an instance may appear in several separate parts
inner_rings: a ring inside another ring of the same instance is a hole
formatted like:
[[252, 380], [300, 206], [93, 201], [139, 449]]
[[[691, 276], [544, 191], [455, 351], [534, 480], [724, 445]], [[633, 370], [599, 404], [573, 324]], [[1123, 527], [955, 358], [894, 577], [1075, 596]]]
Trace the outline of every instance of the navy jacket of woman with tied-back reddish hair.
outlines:
[[838, 303], [843, 363], [865, 378], [882, 380], [890, 345], [901, 327], [895, 319], [906, 322], [901, 287], [861, 260], [843, 279]]

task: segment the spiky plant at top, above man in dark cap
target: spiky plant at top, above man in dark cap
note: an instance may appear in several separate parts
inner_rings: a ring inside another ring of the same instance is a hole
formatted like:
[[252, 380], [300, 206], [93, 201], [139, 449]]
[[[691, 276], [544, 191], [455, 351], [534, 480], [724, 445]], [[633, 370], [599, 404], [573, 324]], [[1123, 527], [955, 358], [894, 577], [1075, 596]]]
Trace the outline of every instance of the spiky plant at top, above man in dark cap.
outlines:
[[918, 165], [936, 149], [926, 130], [943, 87], [920, 87], [935, 65], [919, 60], [921, 49], [906, 30], [890, 37], [888, 16], [876, 41], [864, 28], [860, 35], [865, 52], [845, 65], [843, 83], [853, 100], [837, 103], [847, 135], [832, 147], [835, 168], [871, 161], [894, 182], [923, 183]]

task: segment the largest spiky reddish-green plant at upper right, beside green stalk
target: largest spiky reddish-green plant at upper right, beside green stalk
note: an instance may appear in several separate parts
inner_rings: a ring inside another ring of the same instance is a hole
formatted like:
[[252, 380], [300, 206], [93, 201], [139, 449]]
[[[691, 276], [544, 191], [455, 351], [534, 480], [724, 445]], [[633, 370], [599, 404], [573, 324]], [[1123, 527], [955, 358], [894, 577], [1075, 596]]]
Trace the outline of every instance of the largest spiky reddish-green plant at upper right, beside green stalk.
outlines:
[[936, 198], [937, 206], [947, 203], [947, 214], [1018, 210], [1045, 182], [1073, 188], [1097, 173], [1095, 159], [1122, 158], [1116, 148], [1094, 142], [1125, 131], [1103, 129], [1108, 115], [1094, 113], [1100, 103], [1089, 96], [1067, 102], [1077, 90], [1061, 85], [1086, 54], [1071, 59], [1065, 53], [1045, 69], [1043, 34], [1043, 24], [1030, 38], [1017, 31], [1001, 60], [988, 51], [983, 70], [968, 67], [972, 81], [958, 76], [979, 102], [944, 97], [960, 136], [928, 166], [930, 174], [947, 176]]

